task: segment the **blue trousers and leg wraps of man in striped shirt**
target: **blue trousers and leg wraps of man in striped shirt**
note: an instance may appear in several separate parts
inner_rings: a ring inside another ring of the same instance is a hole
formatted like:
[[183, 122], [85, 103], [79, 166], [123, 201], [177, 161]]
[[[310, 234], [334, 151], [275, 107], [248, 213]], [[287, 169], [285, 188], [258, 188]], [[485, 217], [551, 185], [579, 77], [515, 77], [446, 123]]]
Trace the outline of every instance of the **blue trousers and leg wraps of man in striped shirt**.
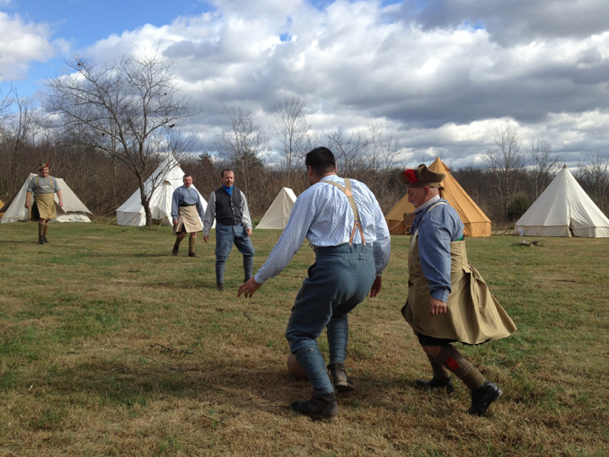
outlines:
[[370, 292], [376, 267], [372, 247], [363, 244], [317, 248], [315, 253], [309, 277], [296, 295], [286, 338], [314, 393], [324, 395], [334, 388], [316, 339], [327, 328], [330, 365], [345, 362], [349, 342], [347, 314]]

